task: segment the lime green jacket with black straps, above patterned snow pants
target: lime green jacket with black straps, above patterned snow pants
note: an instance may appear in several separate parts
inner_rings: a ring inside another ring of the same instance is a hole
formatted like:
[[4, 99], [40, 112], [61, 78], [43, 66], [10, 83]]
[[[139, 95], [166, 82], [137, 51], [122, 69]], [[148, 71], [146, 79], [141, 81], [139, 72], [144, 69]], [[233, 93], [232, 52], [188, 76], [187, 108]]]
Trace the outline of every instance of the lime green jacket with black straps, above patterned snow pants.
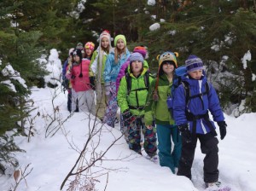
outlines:
[[[148, 67], [143, 68], [142, 74], [136, 78], [130, 72], [130, 67], [128, 68], [131, 77], [131, 91], [130, 94], [127, 92], [127, 83], [125, 76], [121, 79], [118, 91], [118, 104], [121, 109], [121, 113], [123, 113], [126, 109], [130, 109], [132, 115], [143, 116], [144, 115], [144, 107], [146, 105], [146, 98], [148, 95], [148, 90], [146, 89], [146, 85], [144, 82], [144, 75], [148, 71]], [[153, 81], [153, 77], [149, 75], [149, 84]], [[144, 90], [137, 90], [143, 89]], [[138, 109], [135, 109], [137, 107]]]

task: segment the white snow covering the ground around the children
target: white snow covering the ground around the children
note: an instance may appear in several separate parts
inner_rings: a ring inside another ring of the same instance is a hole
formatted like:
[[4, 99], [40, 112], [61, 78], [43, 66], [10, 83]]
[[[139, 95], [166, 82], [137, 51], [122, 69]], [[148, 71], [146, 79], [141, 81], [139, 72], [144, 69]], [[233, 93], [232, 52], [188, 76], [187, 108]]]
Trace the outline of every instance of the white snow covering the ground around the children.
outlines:
[[[55, 51], [51, 53], [52, 61], [58, 62], [57, 56], [54, 56]], [[58, 69], [57, 65], [52, 67], [54, 70]], [[26, 150], [26, 153], [15, 153], [20, 161], [16, 170], [26, 170], [28, 173], [26, 181], [21, 179], [17, 190], [60, 190], [61, 183], [79, 159], [79, 153], [87, 141], [84, 158], [79, 161], [79, 166], [75, 166], [73, 172], [88, 166], [109, 148], [102, 159], [88, 171], [84, 171], [83, 176], [77, 177], [82, 183], [84, 177], [87, 181], [95, 180], [92, 183], [95, 183], [97, 190], [104, 190], [105, 187], [111, 191], [204, 190], [204, 154], [201, 153], [200, 142], [195, 151], [190, 181], [186, 177], [173, 175], [169, 168], [154, 164], [131, 151], [119, 131], [119, 124], [111, 128], [101, 124], [89, 113], [70, 114], [67, 111], [67, 94], [61, 91], [60, 86], [55, 89], [33, 87], [29, 99], [34, 101], [35, 110], [29, 117], [31, 123], [26, 123], [26, 132], [32, 127], [33, 136], [29, 142], [26, 136], [15, 137], [16, 144]], [[238, 118], [225, 115], [228, 124], [227, 136], [223, 141], [219, 140], [218, 144], [219, 181], [230, 186], [232, 191], [256, 190], [256, 142], [253, 142], [255, 119], [256, 113], [244, 113]], [[89, 139], [92, 132], [95, 136]], [[144, 152], [143, 154], [145, 155]], [[14, 169], [9, 167], [5, 172], [7, 176], [0, 177], [1, 191], [15, 187]], [[62, 190], [67, 190], [74, 179], [74, 176], [69, 177]]]

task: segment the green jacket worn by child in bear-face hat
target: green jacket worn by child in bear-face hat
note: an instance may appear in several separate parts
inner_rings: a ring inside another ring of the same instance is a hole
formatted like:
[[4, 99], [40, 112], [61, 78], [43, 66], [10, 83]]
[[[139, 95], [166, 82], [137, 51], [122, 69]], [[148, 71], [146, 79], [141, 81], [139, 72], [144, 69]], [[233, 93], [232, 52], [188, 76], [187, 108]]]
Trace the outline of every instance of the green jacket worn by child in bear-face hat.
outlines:
[[150, 125], [155, 121], [155, 124], [174, 124], [174, 120], [168, 111], [166, 99], [171, 94], [172, 82], [169, 83], [166, 74], [159, 77], [158, 96], [159, 100], [153, 100], [153, 92], [157, 78], [150, 84], [147, 96], [147, 106], [145, 107], [145, 124]]

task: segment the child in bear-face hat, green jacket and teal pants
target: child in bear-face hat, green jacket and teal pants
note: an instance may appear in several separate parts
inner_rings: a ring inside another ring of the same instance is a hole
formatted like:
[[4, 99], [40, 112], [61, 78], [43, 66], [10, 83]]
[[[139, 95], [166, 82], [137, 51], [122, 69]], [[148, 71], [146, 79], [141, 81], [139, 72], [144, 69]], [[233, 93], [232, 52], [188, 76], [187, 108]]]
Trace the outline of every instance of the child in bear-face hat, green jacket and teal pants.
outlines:
[[150, 85], [145, 108], [145, 124], [148, 129], [153, 128], [153, 121], [156, 124], [160, 165], [169, 167], [173, 173], [178, 167], [182, 143], [177, 126], [168, 111], [166, 99], [171, 94], [172, 78], [177, 68], [177, 55], [172, 52], [160, 55], [157, 78]]

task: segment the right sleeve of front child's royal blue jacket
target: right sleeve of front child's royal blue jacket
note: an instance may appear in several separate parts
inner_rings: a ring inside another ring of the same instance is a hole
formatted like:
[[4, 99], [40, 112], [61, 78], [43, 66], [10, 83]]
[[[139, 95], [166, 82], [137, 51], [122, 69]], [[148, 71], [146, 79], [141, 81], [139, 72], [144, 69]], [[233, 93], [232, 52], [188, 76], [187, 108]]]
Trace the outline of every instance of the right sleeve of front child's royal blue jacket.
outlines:
[[209, 94], [208, 94], [208, 101], [209, 101], [209, 110], [212, 113], [213, 120], [224, 121], [224, 114], [219, 104], [218, 95], [213, 88], [212, 84], [209, 84]]

